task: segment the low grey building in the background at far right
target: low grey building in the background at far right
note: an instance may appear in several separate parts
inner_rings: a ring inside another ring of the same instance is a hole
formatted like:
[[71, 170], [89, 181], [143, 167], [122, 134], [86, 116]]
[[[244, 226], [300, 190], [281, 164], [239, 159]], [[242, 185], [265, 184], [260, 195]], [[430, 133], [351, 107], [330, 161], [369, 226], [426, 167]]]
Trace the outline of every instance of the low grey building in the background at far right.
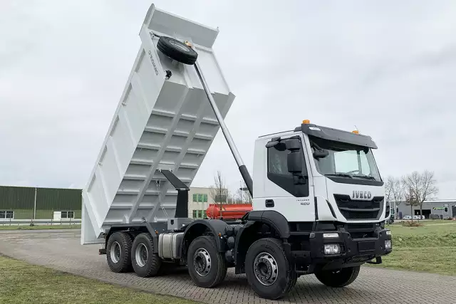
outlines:
[[[398, 219], [402, 219], [406, 215], [421, 215], [420, 206], [413, 206], [412, 214], [410, 214], [410, 206], [407, 206], [404, 202], [400, 203], [396, 209], [398, 209]], [[456, 199], [436, 199], [432, 201], [424, 201], [423, 215], [426, 219], [429, 219], [432, 216], [440, 216], [440, 218], [443, 219], [447, 217], [455, 217]]]

